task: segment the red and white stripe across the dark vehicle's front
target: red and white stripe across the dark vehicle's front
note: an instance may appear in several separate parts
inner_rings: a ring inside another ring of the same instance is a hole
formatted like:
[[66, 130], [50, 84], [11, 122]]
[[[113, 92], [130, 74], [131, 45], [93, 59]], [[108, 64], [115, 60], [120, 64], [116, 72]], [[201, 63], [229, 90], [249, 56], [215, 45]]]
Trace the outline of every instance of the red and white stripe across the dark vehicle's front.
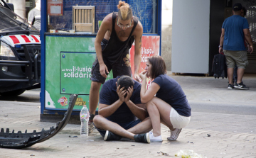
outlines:
[[41, 44], [40, 35], [5, 35], [1, 39], [9, 42], [11, 47], [15, 45]]

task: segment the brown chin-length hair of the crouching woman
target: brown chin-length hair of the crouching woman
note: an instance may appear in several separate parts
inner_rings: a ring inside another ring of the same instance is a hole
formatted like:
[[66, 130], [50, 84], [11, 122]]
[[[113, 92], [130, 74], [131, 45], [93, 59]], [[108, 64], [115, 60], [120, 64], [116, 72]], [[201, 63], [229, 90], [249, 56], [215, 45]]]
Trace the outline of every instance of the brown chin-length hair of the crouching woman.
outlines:
[[148, 58], [149, 63], [151, 64], [151, 77], [152, 79], [156, 79], [160, 74], [166, 74], [166, 64], [164, 62], [163, 57], [157, 55], [157, 56], [151, 56]]

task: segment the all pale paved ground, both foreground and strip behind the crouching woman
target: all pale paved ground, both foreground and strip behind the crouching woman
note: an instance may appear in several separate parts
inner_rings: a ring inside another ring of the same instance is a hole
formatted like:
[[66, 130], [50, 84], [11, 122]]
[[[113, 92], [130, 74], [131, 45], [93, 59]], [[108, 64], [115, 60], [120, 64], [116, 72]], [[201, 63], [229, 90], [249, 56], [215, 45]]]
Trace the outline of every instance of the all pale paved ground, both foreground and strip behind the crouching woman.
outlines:
[[[228, 90], [228, 79], [171, 77], [181, 84], [189, 102], [256, 106], [256, 75], [244, 79], [250, 86], [249, 91]], [[40, 122], [39, 114], [40, 103], [0, 101], [0, 128], [33, 132], [55, 126], [55, 123]], [[256, 115], [202, 113], [192, 109], [191, 123], [183, 128], [178, 140], [167, 140], [169, 133], [169, 129], [162, 125], [164, 141], [161, 143], [105, 142], [97, 131], [82, 137], [80, 125], [68, 124], [50, 140], [32, 147], [0, 148], [0, 157], [175, 157], [178, 151], [188, 149], [206, 157], [256, 157]]]

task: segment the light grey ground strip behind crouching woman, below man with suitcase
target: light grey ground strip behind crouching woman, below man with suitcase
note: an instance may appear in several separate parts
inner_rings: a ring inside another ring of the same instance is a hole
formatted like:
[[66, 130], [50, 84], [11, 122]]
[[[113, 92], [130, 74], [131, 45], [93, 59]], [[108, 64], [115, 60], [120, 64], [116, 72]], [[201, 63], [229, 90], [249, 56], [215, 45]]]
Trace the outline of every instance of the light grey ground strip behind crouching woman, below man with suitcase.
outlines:
[[256, 103], [256, 75], [245, 74], [244, 81], [250, 86], [249, 91], [240, 89], [229, 90], [228, 79], [214, 79], [214, 77], [196, 77], [172, 75], [181, 84], [188, 101], [220, 101], [223, 103]]

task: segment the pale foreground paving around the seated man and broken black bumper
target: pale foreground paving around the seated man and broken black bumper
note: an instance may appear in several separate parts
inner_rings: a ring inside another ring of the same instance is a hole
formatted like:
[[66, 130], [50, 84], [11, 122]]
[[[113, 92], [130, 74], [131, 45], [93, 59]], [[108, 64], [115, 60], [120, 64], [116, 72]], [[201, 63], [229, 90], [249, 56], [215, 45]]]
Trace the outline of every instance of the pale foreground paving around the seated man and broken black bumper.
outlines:
[[[55, 123], [40, 122], [40, 104], [0, 101], [0, 128], [21, 132], [48, 130]], [[18, 111], [18, 112], [16, 112]], [[7, 115], [5, 117], [5, 115]], [[105, 142], [95, 130], [80, 136], [80, 125], [68, 124], [54, 137], [26, 149], [1, 149], [0, 157], [175, 157], [192, 149], [206, 157], [256, 157], [256, 116], [192, 112], [191, 123], [176, 141], [169, 141], [170, 131], [161, 125], [163, 142], [151, 144], [134, 141]], [[252, 131], [252, 132], [251, 132]], [[210, 137], [208, 137], [208, 135]], [[70, 136], [70, 137], [69, 137]], [[78, 137], [73, 137], [78, 136]], [[193, 143], [191, 143], [193, 142]], [[161, 154], [164, 152], [169, 156]]]

